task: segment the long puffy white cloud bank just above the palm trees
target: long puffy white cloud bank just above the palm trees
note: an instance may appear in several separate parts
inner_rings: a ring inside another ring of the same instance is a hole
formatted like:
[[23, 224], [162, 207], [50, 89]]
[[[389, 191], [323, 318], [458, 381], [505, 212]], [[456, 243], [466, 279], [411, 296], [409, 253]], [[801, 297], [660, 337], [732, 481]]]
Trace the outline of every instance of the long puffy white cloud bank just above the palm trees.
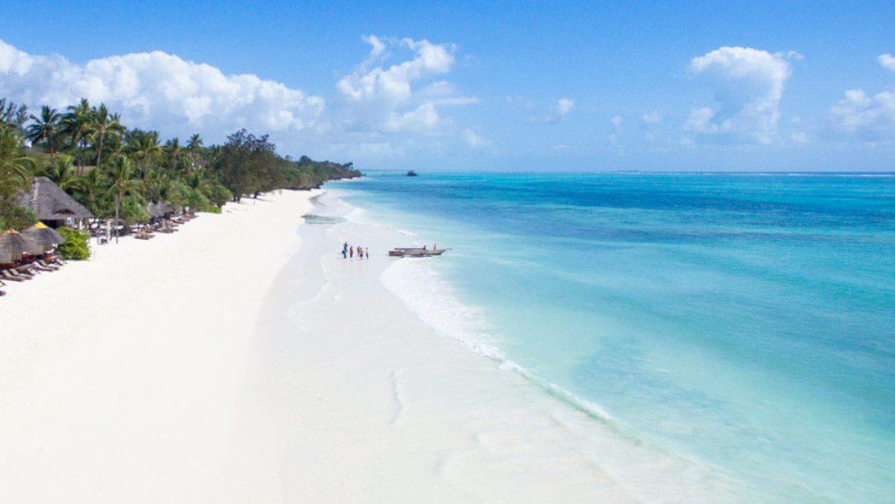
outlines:
[[63, 56], [34, 56], [0, 40], [0, 96], [31, 107], [64, 107], [88, 98], [105, 102], [126, 124], [190, 132], [220, 140], [246, 127], [301, 132], [318, 123], [323, 98], [252, 74], [227, 75], [161, 51], [74, 64]]

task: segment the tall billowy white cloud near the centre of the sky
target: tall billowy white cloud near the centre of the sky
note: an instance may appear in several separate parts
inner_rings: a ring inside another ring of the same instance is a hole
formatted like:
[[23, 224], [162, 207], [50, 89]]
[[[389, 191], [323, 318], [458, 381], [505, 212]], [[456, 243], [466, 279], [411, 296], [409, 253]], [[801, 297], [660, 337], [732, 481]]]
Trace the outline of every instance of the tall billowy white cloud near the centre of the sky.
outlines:
[[[448, 81], [433, 81], [453, 70], [455, 47], [411, 38], [368, 36], [363, 40], [371, 45], [371, 56], [337, 83], [348, 105], [345, 123], [351, 129], [445, 134], [454, 129], [453, 122], [442, 117], [439, 108], [477, 102], [476, 98], [461, 96]], [[389, 47], [409, 50], [413, 57], [386, 64], [379, 56]]]

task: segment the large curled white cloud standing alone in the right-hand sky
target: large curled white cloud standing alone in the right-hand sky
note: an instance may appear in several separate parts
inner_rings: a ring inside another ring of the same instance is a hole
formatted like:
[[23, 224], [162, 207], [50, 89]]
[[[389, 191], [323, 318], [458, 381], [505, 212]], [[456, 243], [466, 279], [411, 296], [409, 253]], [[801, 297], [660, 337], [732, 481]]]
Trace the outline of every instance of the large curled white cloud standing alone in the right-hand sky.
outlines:
[[689, 70], [712, 81], [717, 106], [695, 108], [685, 129], [737, 140], [772, 141], [790, 74], [788, 59], [797, 56], [772, 55], [751, 47], [720, 47], [693, 58]]

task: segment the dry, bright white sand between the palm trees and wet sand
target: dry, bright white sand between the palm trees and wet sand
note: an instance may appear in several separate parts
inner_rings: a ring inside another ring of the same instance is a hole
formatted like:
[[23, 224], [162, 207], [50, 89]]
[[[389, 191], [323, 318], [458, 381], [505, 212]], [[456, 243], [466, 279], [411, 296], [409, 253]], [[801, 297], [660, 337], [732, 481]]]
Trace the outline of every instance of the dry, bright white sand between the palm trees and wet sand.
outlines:
[[309, 196], [230, 204], [8, 286], [0, 500], [276, 501], [276, 454], [244, 377]]

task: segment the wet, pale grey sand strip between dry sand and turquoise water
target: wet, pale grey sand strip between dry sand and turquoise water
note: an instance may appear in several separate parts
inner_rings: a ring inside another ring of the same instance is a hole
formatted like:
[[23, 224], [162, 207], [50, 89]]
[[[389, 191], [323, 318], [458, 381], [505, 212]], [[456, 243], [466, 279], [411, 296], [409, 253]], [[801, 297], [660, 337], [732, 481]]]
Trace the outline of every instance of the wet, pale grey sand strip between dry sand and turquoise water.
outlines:
[[[429, 267], [438, 259], [386, 256], [404, 232], [337, 191], [312, 212], [326, 218], [300, 229], [307, 246], [268, 295], [254, 366], [286, 474], [314, 482], [287, 500], [733, 499], [709, 468], [632, 442], [451, 334], [477, 330], [477, 314]], [[371, 260], [342, 259], [345, 241], [370, 246]]]

